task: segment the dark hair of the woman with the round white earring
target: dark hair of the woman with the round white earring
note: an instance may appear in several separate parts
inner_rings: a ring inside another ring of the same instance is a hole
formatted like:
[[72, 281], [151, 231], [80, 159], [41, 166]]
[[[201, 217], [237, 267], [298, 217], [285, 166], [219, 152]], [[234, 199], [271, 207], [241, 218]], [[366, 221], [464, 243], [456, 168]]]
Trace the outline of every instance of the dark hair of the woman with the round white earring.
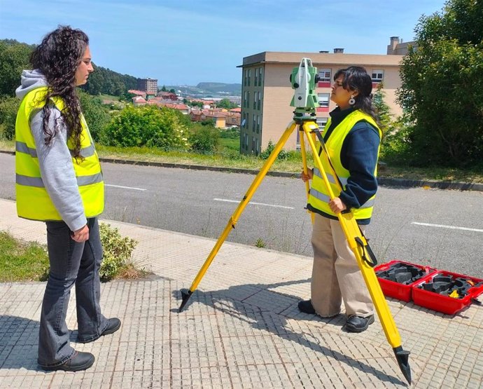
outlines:
[[356, 104], [352, 107], [360, 109], [369, 115], [377, 125], [380, 125], [374, 106], [372, 105], [372, 79], [367, 71], [361, 66], [350, 66], [346, 69], [339, 69], [334, 76], [334, 81], [341, 75], [344, 75], [342, 87], [346, 90], [357, 90], [358, 95], [354, 97]]

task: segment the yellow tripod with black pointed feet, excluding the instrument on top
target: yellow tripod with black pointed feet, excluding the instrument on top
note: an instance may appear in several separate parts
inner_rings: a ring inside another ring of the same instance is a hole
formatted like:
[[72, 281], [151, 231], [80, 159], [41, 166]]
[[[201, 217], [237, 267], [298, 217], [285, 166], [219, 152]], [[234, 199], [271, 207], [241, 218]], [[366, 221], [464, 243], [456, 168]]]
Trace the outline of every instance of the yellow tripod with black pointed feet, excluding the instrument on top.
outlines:
[[[319, 131], [318, 125], [316, 124], [314, 117], [294, 117], [294, 120], [290, 122], [285, 132], [283, 132], [283, 135], [279, 139], [279, 142], [276, 143], [274, 150], [272, 151], [272, 153], [270, 153], [267, 161], [263, 164], [260, 172], [258, 172], [258, 175], [256, 175], [255, 179], [253, 179], [250, 188], [248, 188], [248, 191], [246, 191], [244, 198], [241, 200], [237, 209], [232, 214], [232, 217], [230, 217], [228, 224], [223, 230], [223, 233], [221, 233], [220, 238], [218, 238], [218, 241], [216, 242], [209, 256], [207, 257], [207, 260], [204, 262], [195, 280], [193, 280], [190, 289], [181, 290], [182, 301], [181, 306], [179, 307], [179, 312], [181, 312], [183, 307], [188, 302], [188, 299], [190, 299], [190, 296], [197, 289], [204, 274], [207, 272], [209, 266], [211, 265], [211, 262], [214, 260], [214, 257], [218, 253], [218, 250], [220, 250], [221, 245], [223, 245], [223, 243], [225, 242], [225, 239], [230, 234], [232, 228], [235, 228], [235, 225], [237, 224], [241, 213], [244, 211], [246, 205], [248, 205], [248, 203], [250, 202], [253, 193], [255, 193], [256, 189], [262, 182], [262, 179], [265, 177], [265, 175], [267, 175], [269, 168], [272, 167], [276, 157], [279, 155], [281, 149], [283, 149], [283, 145], [287, 142], [288, 137], [290, 137], [290, 134], [292, 134], [293, 130], [295, 130], [296, 127], [298, 127], [298, 130], [300, 131], [300, 146], [302, 150], [302, 163], [304, 172], [307, 173], [307, 155], [304, 146], [304, 137], [306, 137], [312, 154], [314, 156], [314, 163], [316, 164], [318, 170], [320, 170], [323, 181], [328, 188], [330, 199], [332, 200], [336, 197], [335, 194], [332, 192], [328, 177], [323, 170], [321, 158], [318, 156], [316, 144], [314, 143], [314, 139], [311, 135]], [[325, 150], [325, 144], [323, 144], [323, 141], [321, 142], [321, 146], [324, 150], [324, 152], [321, 153], [322, 158], [329, 158], [328, 153]], [[332, 174], [334, 174], [334, 177], [336, 177], [335, 172], [332, 171]], [[305, 184], [308, 196], [309, 183], [306, 182]], [[339, 187], [339, 191], [342, 191], [341, 187]], [[373, 266], [377, 264], [374, 254], [372, 253], [372, 250], [370, 250], [370, 247], [367, 244], [367, 240], [363, 236], [363, 233], [360, 231], [356, 219], [354, 219], [353, 217], [353, 213], [339, 213], [337, 214], [337, 217], [342, 226], [342, 230], [344, 231], [346, 239], [349, 242], [349, 247], [351, 247], [351, 250], [356, 256], [357, 264], [360, 268], [360, 271], [363, 273], [365, 284], [367, 285], [367, 289], [370, 292], [372, 302], [374, 303], [377, 315], [379, 316], [379, 320], [381, 321], [381, 326], [384, 329], [384, 334], [386, 334], [386, 339], [394, 350], [394, 354], [396, 359], [398, 360], [398, 364], [402, 371], [402, 374], [405, 376], [407, 381], [411, 383], [411, 369], [408, 362], [409, 352], [402, 349], [398, 328], [395, 326], [393, 316], [391, 315], [391, 311], [389, 310], [386, 299], [384, 298], [384, 294], [381, 291], [377, 276], [374, 273]]]

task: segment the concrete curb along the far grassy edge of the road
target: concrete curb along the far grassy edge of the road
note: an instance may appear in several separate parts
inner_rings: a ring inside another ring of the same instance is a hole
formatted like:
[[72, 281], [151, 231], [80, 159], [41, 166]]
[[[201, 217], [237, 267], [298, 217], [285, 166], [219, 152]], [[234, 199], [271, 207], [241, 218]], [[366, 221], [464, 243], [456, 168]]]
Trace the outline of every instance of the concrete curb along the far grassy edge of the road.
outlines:
[[[15, 155], [15, 151], [0, 150], [0, 153], [7, 153]], [[255, 169], [239, 169], [239, 168], [220, 168], [216, 166], [204, 165], [184, 165], [181, 163], [167, 163], [167, 162], [150, 162], [150, 161], [131, 161], [117, 158], [99, 158], [102, 162], [109, 163], [124, 163], [126, 165], [141, 165], [141, 166], [158, 166], [160, 168], [178, 168], [178, 169], [192, 169], [192, 170], [209, 170], [213, 172], [231, 172], [241, 173], [246, 175], [257, 175], [259, 170]], [[276, 172], [268, 171], [267, 176], [271, 177], [289, 177], [300, 178], [300, 173], [293, 172]], [[483, 184], [471, 182], [451, 182], [451, 181], [428, 181], [419, 179], [398, 179], [389, 177], [378, 177], [377, 182], [383, 186], [396, 186], [402, 188], [417, 188], [428, 186], [436, 189], [452, 189], [458, 191], [483, 191]]]

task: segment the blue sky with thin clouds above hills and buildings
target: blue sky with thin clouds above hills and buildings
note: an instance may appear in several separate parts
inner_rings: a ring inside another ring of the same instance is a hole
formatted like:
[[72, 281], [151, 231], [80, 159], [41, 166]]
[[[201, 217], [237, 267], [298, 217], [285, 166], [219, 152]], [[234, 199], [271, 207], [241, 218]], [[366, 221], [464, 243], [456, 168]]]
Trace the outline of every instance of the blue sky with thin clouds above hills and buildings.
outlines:
[[83, 29], [92, 60], [158, 85], [240, 83], [262, 51], [386, 54], [414, 38], [444, 0], [0, 0], [0, 39], [39, 43], [57, 25]]

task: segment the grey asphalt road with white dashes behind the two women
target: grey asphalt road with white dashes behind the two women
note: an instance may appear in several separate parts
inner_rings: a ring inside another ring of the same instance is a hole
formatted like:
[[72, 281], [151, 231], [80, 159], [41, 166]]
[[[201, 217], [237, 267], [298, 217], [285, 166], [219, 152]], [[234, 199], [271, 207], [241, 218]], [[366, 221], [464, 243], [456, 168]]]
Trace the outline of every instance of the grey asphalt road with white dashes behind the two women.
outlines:
[[[0, 153], [0, 197], [15, 199], [15, 158]], [[218, 238], [254, 175], [103, 163], [102, 217]], [[300, 179], [265, 177], [228, 240], [311, 256]], [[366, 230], [380, 262], [400, 259], [483, 278], [483, 193], [381, 186]]]

